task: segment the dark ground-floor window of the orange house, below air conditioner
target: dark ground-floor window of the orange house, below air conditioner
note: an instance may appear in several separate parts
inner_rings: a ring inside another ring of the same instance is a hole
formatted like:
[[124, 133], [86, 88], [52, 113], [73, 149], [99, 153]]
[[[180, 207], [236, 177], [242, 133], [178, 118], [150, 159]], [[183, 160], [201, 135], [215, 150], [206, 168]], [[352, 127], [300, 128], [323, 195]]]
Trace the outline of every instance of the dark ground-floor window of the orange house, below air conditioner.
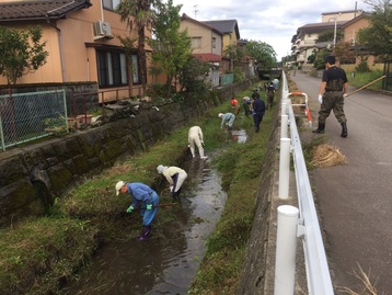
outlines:
[[96, 50], [96, 57], [100, 87], [128, 84], [127, 58], [124, 53]]

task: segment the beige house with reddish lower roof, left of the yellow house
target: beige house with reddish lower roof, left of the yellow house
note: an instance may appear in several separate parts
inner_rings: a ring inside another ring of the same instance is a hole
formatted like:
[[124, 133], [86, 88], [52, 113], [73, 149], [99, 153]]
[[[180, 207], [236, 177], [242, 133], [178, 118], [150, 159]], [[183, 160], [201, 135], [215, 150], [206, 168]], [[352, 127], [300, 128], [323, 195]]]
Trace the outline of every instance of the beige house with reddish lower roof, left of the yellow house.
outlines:
[[187, 30], [192, 38], [193, 56], [210, 65], [208, 79], [211, 87], [219, 86], [219, 73], [222, 60], [223, 34], [214, 26], [196, 21], [183, 13], [180, 31]]

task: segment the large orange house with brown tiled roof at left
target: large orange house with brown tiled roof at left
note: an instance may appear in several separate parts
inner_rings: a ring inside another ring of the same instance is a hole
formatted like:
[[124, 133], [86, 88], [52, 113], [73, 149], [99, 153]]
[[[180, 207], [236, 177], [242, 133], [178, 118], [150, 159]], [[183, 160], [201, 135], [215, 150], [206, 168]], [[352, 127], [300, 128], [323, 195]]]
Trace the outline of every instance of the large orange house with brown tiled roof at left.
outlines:
[[[16, 30], [41, 25], [48, 52], [46, 64], [20, 78], [18, 83], [92, 82], [102, 92], [100, 102], [112, 100], [118, 91], [124, 91], [123, 95], [143, 94], [137, 52], [131, 52], [128, 58], [116, 37], [137, 39], [137, 33], [129, 32], [127, 23], [114, 12], [118, 3], [119, 0], [1, 2], [0, 25]], [[151, 35], [149, 30], [146, 35]], [[132, 65], [131, 72], [127, 60]], [[147, 82], [150, 80], [148, 77]], [[7, 80], [0, 77], [0, 83]]]

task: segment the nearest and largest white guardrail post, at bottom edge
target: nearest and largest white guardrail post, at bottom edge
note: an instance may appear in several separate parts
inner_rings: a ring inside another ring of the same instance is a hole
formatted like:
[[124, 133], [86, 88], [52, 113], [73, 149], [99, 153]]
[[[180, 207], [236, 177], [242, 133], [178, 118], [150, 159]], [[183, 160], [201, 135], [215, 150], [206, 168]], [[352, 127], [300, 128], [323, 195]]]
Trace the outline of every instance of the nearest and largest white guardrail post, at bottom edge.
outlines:
[[275, 261], [275, 295], [295, 294], [297, 226], [299, 209], [295, 206], [278, 207]]

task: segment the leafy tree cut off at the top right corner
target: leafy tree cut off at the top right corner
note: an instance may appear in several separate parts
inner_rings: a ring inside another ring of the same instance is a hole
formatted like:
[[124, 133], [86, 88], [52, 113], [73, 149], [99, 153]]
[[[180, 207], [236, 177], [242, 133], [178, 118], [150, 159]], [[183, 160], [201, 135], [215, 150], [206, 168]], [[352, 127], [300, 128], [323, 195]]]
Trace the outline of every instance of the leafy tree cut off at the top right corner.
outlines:
[[392, 58], [392, 4], [391, 0], [366, 0], [372, 7], [368, 14], [369, 26], [358, 31], [357, 45], [364, 45], [384, 60]]

